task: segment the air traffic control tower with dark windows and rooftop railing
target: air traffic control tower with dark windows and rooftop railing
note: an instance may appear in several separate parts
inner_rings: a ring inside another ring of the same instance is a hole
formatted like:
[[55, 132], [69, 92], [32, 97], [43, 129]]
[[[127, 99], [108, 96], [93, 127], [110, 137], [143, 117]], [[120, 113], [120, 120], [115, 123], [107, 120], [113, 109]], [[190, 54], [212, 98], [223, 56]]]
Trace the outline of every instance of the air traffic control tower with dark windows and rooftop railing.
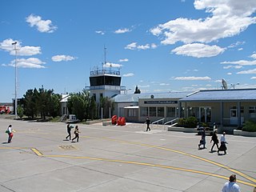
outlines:
[[86, 90], [90, 91], [97, 103], [101, 98], [113, 98], [121, 94], [121, 91], [126, 91], [126, 86], [121, 86], [120, 70], [113, 70], [111, 65], [104, 66], [102, 69], [96, 67], [90, 70], [90, 86], [86, 86]]

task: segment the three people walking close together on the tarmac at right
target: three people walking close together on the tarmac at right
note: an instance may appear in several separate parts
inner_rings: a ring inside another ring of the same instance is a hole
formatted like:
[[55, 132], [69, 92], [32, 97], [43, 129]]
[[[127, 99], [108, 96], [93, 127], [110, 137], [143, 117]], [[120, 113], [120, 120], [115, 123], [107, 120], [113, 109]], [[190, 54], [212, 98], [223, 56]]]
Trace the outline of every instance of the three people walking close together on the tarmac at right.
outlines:
[[[214, 142], [213, 145], [211, 146], [211, 149], [210, 149], [210, 152], [214, 152], [214, 146], [217, 146], [217, 149], [218, 149], [218, 154], [220, 154], [219, 152], [220, 151], [224, 151], [224, 154], [227, 154], [226, 153], [226, 150], [227, 150], [227, 147], [226, 147], [226, 132], [224, 131], [222, 133], [222, 136], [221, 136], [221, 139], [220, 139], [220, 142], [221, 142], [221, 145], [218, 146], [218, 134], [217, 134], [217, 130], [214, 130], [214, 133], [213, 135], [211, 136], [211, 139], [210, 139], [210, 142]], [[201, 148], [201, 146], [203, 146], [203, 148]], [[202, 130], [202, 133], [201, 133], [201, 139], [200, 139], [200, 142], [198, 144], [198, 149], [206, 149], [206, 129], [203, 128]]]

